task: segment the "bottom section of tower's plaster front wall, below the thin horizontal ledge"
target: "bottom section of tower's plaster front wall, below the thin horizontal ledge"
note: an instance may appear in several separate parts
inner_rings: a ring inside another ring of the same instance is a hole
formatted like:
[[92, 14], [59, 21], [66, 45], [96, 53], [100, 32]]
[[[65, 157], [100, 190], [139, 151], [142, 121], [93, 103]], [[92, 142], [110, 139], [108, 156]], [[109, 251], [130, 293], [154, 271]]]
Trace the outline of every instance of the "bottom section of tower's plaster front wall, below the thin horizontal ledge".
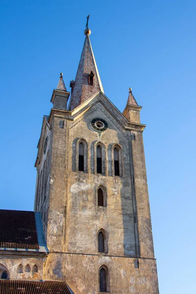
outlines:
[[[57, 264], [57, 260], [59, 264]], [[55, 262], [52, 269], [53, 261]], [[59, 265], [61, 268], [60, 277], [58, 274]], [[136, 259], [128, 257], [50, 253], [43, 278], [66, 278], [66, 282], [75, 294], [98, 294], [98, 270], [102, 265], [105, 265], [109, 270], [110, 294], [159, 293], [156, 261], [152, 259], [138, 259], [137, 263]]]

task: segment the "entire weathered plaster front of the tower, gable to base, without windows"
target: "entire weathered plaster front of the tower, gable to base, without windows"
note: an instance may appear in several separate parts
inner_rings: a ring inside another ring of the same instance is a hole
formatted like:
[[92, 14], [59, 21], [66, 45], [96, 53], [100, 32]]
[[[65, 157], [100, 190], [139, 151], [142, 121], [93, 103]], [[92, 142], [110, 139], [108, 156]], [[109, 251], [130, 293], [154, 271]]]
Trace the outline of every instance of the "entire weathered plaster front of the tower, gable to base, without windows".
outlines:
[[[97, 117], [108, 123], [102, 134], [90, 126]], [[103, 264], [109, 269], [110, 293], [158, 294], [142, 133], [132, 132], [135, 136], [99, 102], [73, 121], [53, 118], [50, 189], [45, 202], [49, 205], [50, 253], [43, 278], [66, 279], [75, 294], [98, 293], [98, 268]], [[88, 144], [87, 173], [76, 171], [79, 138]], [[105, 175], [96, 174], [94, 168], [98, 141], [105, 145]], [[112, 174], [114, 143], [123, 148], [123, 177]], [[96, 204], [98, 185], [106, 189], [106, 207]], [[104, 254], [98, 253], [100, 228], [107, 236]], [[137, 269], [133, 260], [140, 256], [147, 259], [140, 259]]]

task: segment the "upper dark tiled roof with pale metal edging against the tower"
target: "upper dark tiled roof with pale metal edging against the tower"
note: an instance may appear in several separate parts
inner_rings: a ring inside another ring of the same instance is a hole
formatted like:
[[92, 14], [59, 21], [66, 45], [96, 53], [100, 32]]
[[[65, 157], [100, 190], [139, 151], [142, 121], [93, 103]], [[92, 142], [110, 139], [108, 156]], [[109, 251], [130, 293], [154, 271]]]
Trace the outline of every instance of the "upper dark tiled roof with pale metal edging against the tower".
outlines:
[[33, 211], [0, 209], [0, 247], [39, 249]]

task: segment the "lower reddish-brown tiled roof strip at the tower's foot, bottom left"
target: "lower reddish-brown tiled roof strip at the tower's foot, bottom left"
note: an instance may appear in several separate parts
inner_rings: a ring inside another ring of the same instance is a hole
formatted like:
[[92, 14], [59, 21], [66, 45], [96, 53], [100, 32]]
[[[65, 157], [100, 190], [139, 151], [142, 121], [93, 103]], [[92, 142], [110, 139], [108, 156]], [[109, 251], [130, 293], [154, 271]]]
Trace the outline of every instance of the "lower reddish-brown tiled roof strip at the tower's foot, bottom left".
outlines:
[[0, 294], [71, 294], [64, 281], [0, 280]]

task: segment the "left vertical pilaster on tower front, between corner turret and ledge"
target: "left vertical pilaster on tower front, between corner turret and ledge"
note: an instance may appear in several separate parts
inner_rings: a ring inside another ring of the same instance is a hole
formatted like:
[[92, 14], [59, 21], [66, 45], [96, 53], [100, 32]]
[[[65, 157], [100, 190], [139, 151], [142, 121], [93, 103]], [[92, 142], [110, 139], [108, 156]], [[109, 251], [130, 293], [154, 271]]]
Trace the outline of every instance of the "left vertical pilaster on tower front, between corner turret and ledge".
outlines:
[[47, 246], [50, 251], [63, 251], [64, 196], [65, 196], [65, 122], [52, 122], [51, 170]]

